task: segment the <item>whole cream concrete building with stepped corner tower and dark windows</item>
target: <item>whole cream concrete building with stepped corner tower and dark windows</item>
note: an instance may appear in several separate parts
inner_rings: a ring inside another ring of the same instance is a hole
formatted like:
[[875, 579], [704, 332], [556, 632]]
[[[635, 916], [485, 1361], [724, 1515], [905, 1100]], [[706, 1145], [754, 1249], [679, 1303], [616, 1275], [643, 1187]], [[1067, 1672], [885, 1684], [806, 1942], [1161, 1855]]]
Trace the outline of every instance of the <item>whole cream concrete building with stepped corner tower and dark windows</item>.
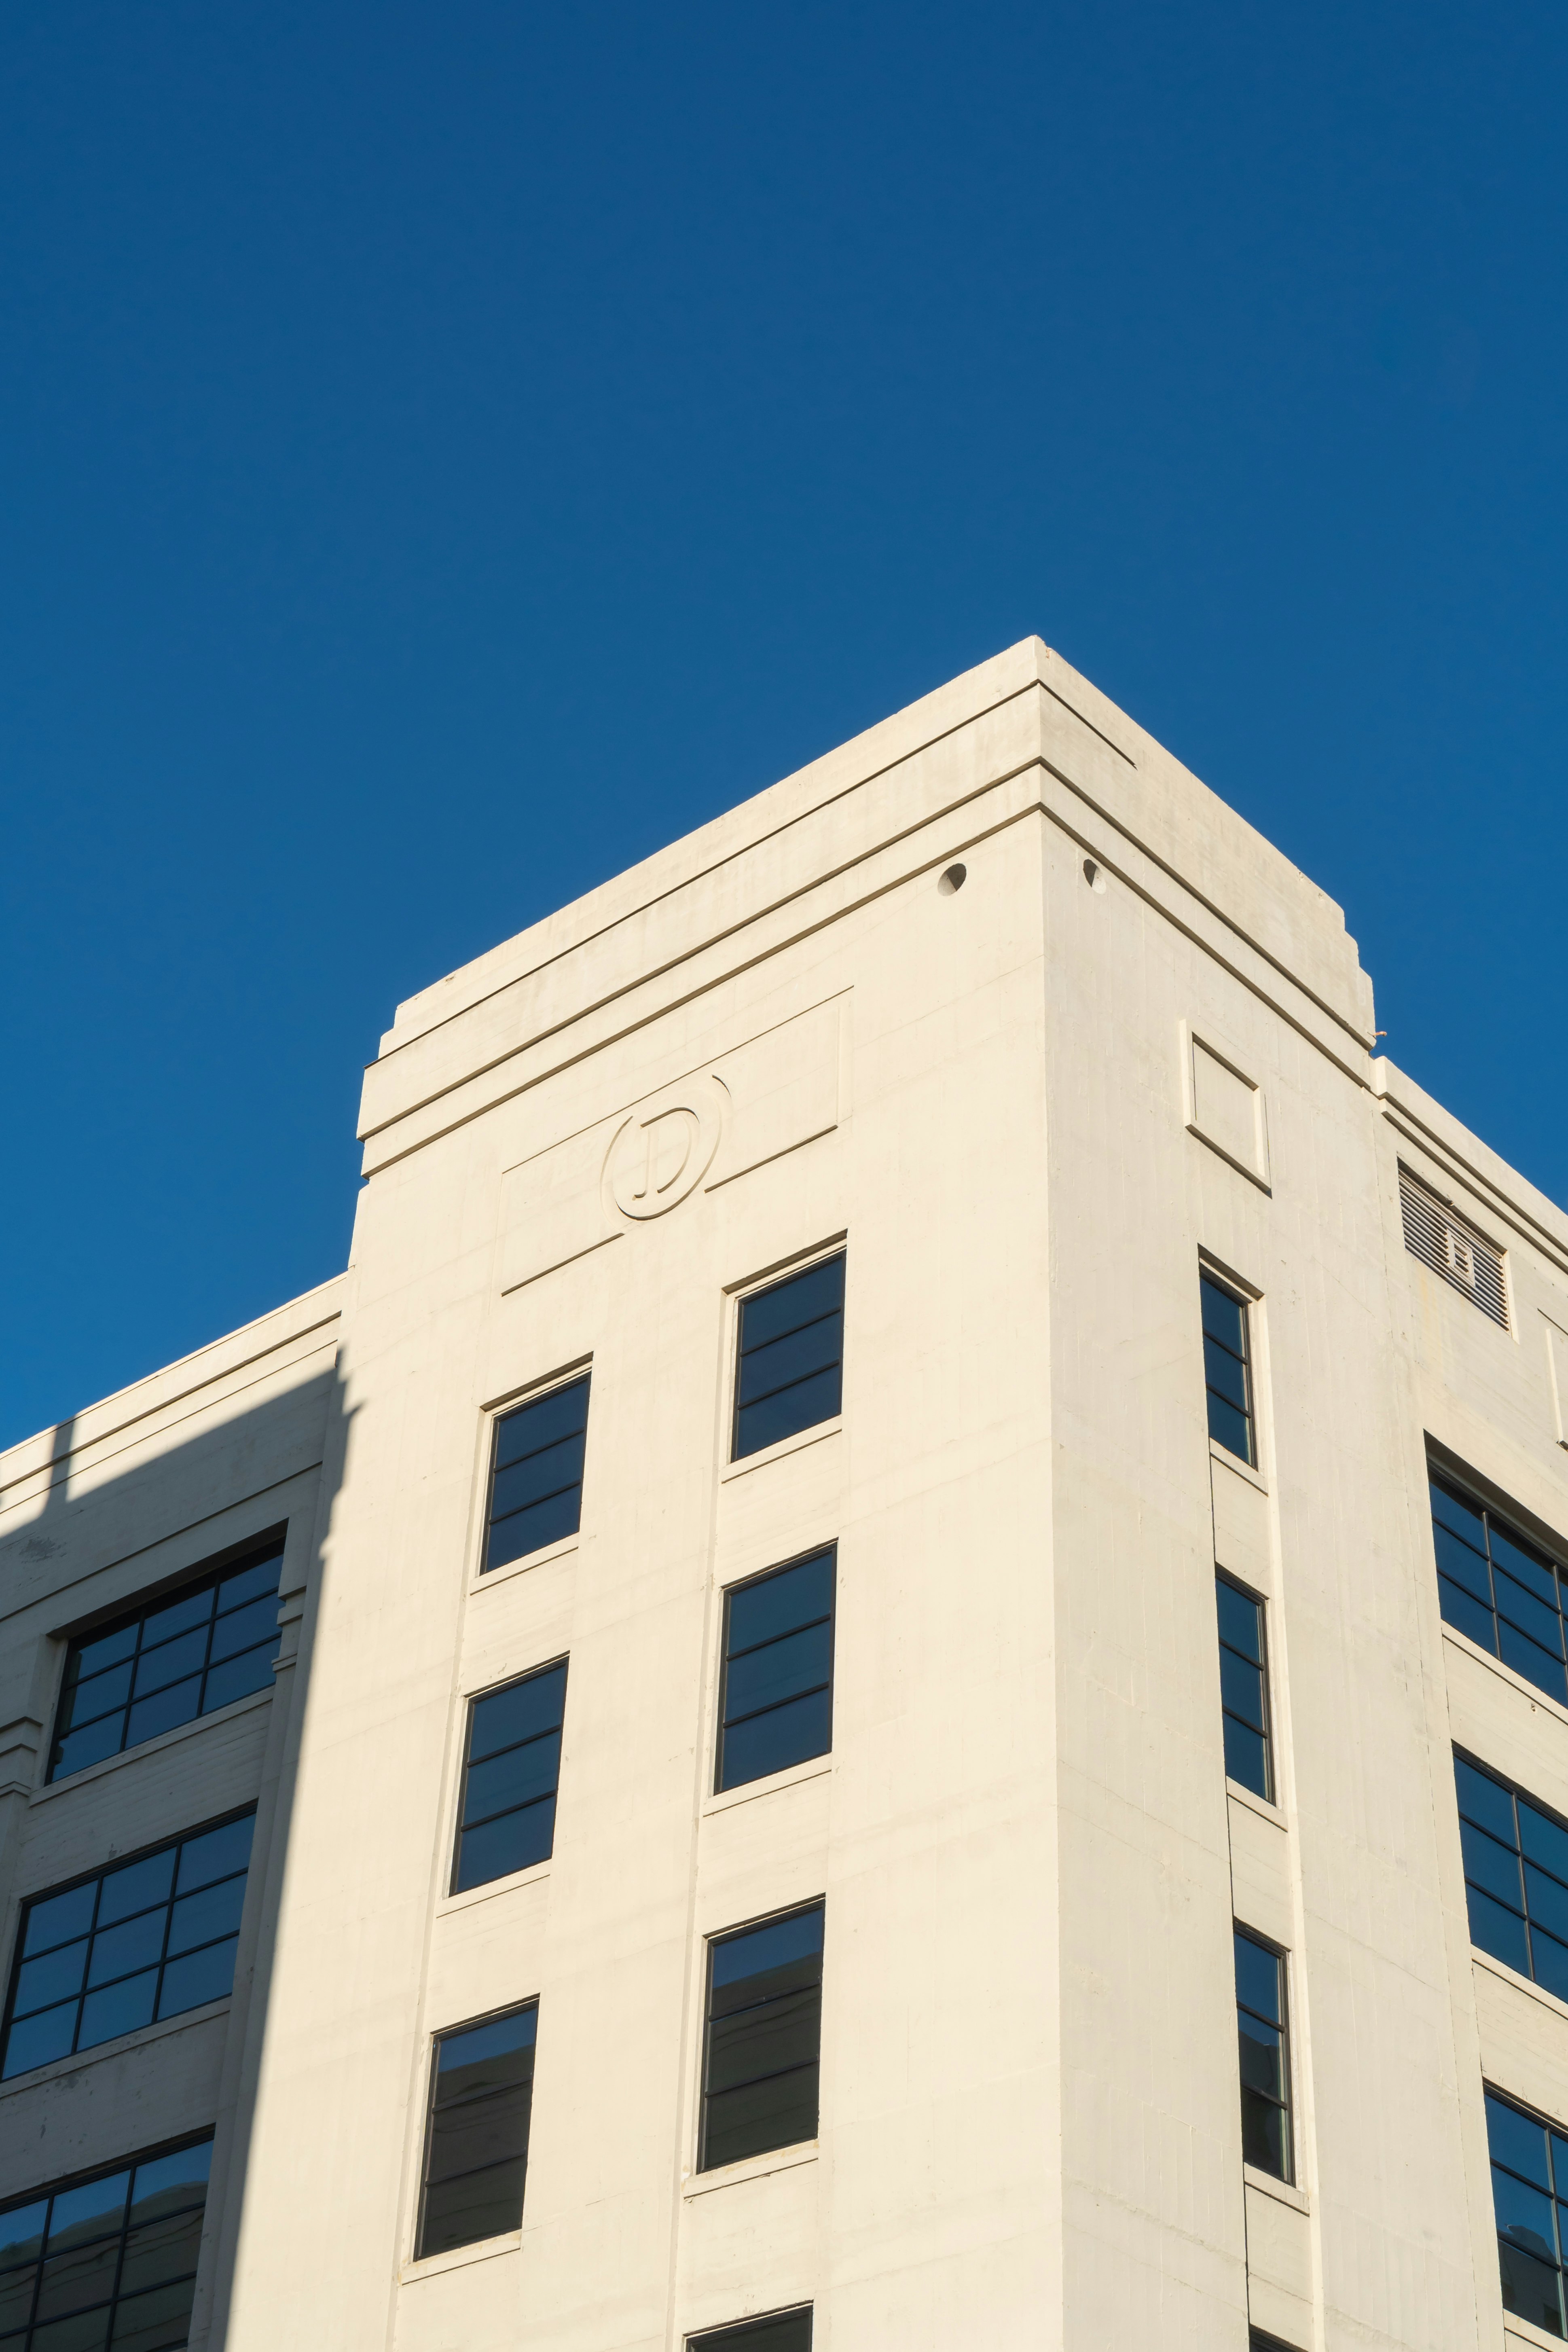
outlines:
[[1373, 1042], [1037, 640], [400, 1007], [0, 1458], [0, 2352], [1561, 2340], [1568, 1218]]

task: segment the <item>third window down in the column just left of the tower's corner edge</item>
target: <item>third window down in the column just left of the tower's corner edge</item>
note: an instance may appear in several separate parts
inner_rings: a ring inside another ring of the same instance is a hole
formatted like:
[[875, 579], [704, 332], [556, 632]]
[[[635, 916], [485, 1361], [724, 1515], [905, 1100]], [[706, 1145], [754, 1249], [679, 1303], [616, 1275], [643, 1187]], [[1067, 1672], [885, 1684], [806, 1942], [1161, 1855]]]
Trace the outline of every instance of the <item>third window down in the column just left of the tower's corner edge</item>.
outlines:
[[698, 2171], [816, 2138], [823, 1905], [708, 1945]]

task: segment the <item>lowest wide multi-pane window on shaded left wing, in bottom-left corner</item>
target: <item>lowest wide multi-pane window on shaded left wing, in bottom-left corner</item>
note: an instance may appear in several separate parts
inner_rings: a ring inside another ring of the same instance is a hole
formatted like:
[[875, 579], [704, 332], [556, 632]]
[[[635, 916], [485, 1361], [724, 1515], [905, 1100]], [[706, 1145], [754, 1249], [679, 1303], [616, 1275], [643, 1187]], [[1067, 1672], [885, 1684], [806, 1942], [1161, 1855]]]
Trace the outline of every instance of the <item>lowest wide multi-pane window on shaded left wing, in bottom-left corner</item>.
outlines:
[[5, 2352], [167, 2352], [195, 2296], [212, 2140], [0, 2206]]

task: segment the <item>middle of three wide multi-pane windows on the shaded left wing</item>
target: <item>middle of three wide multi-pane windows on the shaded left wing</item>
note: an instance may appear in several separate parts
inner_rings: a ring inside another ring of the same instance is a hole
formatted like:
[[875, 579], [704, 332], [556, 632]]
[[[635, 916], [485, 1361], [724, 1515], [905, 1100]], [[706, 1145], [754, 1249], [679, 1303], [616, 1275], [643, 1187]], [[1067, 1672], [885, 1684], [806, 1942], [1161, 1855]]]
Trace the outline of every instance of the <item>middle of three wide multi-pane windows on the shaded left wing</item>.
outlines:
[[233, 1992], [252, 1830], [240, 1813], [24, 1903], [0, 2074]]

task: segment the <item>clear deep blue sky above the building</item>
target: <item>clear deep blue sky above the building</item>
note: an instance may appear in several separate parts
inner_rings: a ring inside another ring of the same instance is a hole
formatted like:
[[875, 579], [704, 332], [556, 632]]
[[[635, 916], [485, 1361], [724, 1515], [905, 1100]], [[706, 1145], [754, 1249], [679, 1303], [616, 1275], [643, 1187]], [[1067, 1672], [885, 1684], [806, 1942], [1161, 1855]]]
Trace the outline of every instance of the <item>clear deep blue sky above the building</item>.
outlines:
[[1568, 14], [16, 0], [0, 1442], [331, 1275], [393, 1004], [1037, 630], [1556, 1200]]

